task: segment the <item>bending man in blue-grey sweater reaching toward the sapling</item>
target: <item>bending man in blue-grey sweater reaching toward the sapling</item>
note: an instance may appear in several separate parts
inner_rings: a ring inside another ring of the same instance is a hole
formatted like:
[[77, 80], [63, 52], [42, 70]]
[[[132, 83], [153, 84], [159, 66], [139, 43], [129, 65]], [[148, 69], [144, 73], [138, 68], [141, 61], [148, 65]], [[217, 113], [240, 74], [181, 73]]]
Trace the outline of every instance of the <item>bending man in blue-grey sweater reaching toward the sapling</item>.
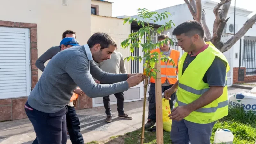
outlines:
[[[95, 33], [87, 44], [65, 49], [50, 60], [25, 104], [40, 144], [67, 142], [65, 106], [77, 86], [91, 98], [103, 97], [124, 92], [144, 79], [140, 73], [111, 74], [95, 65], [94, 61], [110, 59], [116, 46], [108, 34]], [[92, 76], [114, 84], [96, 84]]]

